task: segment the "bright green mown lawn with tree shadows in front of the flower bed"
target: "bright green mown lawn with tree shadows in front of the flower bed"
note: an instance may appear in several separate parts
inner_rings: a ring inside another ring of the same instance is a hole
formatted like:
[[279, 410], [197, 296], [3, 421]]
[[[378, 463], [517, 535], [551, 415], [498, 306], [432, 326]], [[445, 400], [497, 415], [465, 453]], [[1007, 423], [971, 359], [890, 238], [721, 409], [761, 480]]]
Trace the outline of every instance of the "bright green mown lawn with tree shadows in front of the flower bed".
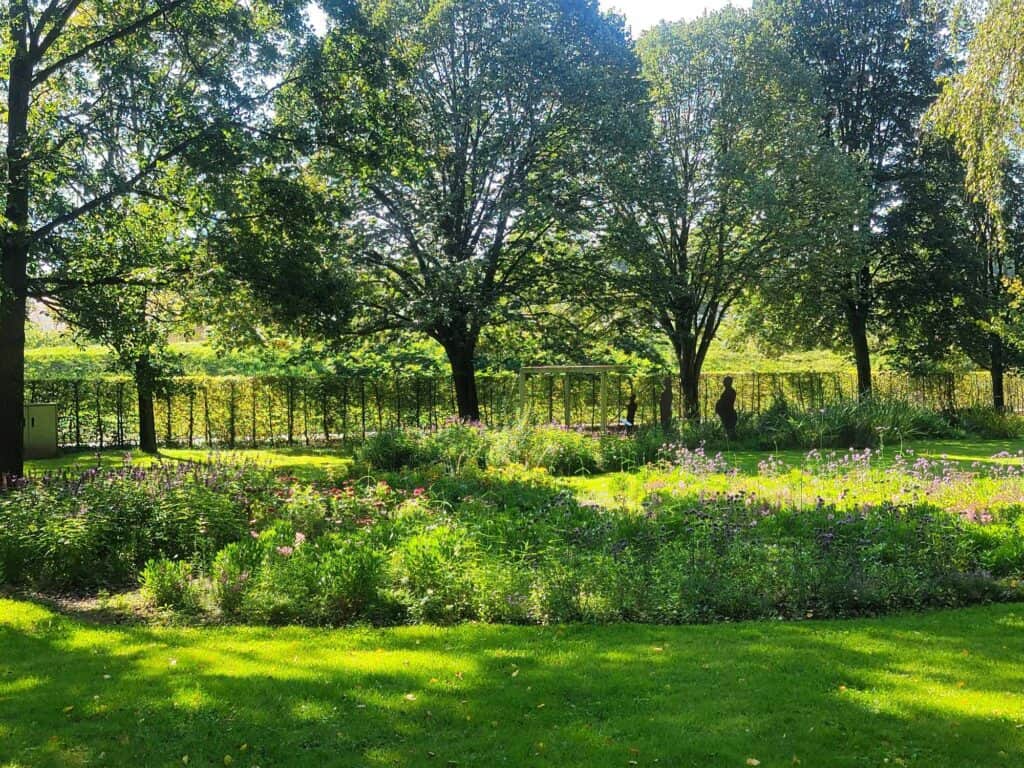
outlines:
[[1022, 658], [1024, 605], [317, 631], [0, 600], [0, 766], [1020, 766]]

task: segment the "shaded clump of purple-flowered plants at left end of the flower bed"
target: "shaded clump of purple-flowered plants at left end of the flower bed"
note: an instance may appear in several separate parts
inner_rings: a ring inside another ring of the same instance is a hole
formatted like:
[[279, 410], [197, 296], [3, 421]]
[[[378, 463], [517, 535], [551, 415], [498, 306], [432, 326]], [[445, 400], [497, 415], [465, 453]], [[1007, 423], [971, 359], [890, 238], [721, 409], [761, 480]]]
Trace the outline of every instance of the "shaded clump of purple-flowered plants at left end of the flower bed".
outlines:
[[246, 535], [271, 482], [252, 467], [187, 464], [25, 481], [0, 495], [6, 579], [85, 590], [133, 585], [152, 559], [206, 568]]

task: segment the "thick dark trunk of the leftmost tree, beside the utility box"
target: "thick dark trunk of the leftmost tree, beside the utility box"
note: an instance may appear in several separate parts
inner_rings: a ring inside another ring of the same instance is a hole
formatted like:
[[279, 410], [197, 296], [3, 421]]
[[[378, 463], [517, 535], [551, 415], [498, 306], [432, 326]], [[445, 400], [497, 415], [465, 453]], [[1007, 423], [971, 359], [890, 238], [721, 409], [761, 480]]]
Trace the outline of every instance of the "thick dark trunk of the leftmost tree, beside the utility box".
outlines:
[[7, 179], [0, 253], [0, 475], [25, 471], [25, 310], [29, 264], [28, 4], [11, 8], [7, 81]]

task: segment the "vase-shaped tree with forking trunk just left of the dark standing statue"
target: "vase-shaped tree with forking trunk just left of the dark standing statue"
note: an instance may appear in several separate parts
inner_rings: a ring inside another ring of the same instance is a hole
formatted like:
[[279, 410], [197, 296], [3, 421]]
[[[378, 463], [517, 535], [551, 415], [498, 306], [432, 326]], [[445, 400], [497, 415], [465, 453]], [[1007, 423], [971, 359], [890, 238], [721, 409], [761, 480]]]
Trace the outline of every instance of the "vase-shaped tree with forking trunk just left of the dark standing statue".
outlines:
[[722, 319], [782, 250], [820, 248], [859, 202], [820, 139], [813, 79], [765, 32], [735, 9], [648, 32], [647, 145], [610, 179], [609, 294], [671, 341], [690, 418]]

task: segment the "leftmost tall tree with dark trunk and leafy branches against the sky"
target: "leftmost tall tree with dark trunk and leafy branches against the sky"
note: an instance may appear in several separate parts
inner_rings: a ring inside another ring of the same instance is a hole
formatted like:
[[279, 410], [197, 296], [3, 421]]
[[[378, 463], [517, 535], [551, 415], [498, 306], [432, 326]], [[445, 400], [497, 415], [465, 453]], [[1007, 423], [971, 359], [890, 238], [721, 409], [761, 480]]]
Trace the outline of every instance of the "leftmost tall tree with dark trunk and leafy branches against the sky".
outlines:
[[282, 22], [257, 0], [10, 0], [0, 12], [6, 156], [0, 172], [0, 474], [23, 471], [29, 296], [78, 279], [49, 259], [66, 228], [148, 194], [170, 161], [209, 172], [253, 120]]

